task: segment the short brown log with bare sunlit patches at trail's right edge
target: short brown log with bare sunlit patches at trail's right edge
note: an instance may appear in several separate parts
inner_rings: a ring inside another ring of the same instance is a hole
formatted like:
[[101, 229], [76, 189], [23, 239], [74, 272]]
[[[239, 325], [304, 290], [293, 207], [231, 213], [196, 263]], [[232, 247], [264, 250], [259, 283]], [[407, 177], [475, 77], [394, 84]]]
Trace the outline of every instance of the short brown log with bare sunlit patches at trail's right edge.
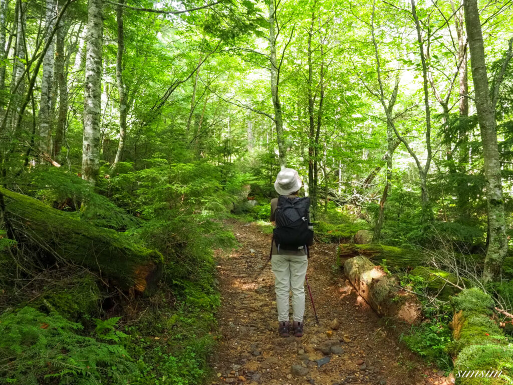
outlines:
[[368, 258], [357, 256], [344, 263], [347, 279], [358, 294], [382, 317], [394, 317], [416, 323], [421, 305], [414, 294], [405, 292], [396, 278], [374, 265]]

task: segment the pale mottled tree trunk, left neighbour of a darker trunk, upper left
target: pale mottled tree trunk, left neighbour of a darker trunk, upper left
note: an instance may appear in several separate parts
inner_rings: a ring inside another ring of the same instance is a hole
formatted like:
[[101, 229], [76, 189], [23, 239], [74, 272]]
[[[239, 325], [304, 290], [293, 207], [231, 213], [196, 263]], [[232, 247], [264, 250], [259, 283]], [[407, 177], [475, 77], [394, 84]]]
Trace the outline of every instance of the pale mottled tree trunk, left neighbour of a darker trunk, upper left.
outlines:
[[[50, 40], [51, 32], [55, 23], [57, 11], [55, 0], [46, 0], [46, 36], [45, 41]], [[53, 40], [53, 39], [52, 39]], [[54, 45], [50, 43], [43, 59], [43, 78], [41, 80], [41, 102], [39, 107], [39, 136], [40, 150], [42, 153], [50, 154], [52, 148], [52, 126], [51, 126], [51, 100], [53, 88], [53, 67], [55, 63]], [[45, 161], [42, 159], [42, 163]]]

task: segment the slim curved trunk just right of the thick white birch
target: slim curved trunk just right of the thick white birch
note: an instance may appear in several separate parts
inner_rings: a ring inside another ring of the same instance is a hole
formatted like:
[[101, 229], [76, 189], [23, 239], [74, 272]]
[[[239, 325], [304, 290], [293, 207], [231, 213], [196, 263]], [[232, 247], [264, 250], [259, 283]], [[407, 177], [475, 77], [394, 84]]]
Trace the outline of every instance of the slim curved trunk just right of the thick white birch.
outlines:
[[127, 98], [125, 92], [125, 84], [123, 83], [123, 51], [125, 50], [125, 33], [123, 30], [123, 4], [125, 0], [119, 0], [117, 6], [117, 55], [116, 55], [116, 84], [117, 92], [120, 97], [120, 141], [117, 145], [116, 157], [112, 163], [111, 169], [116, 167], [117, 162], [121, 162], [123, 150], [125, 149], [125, 136], [127, 129]]

